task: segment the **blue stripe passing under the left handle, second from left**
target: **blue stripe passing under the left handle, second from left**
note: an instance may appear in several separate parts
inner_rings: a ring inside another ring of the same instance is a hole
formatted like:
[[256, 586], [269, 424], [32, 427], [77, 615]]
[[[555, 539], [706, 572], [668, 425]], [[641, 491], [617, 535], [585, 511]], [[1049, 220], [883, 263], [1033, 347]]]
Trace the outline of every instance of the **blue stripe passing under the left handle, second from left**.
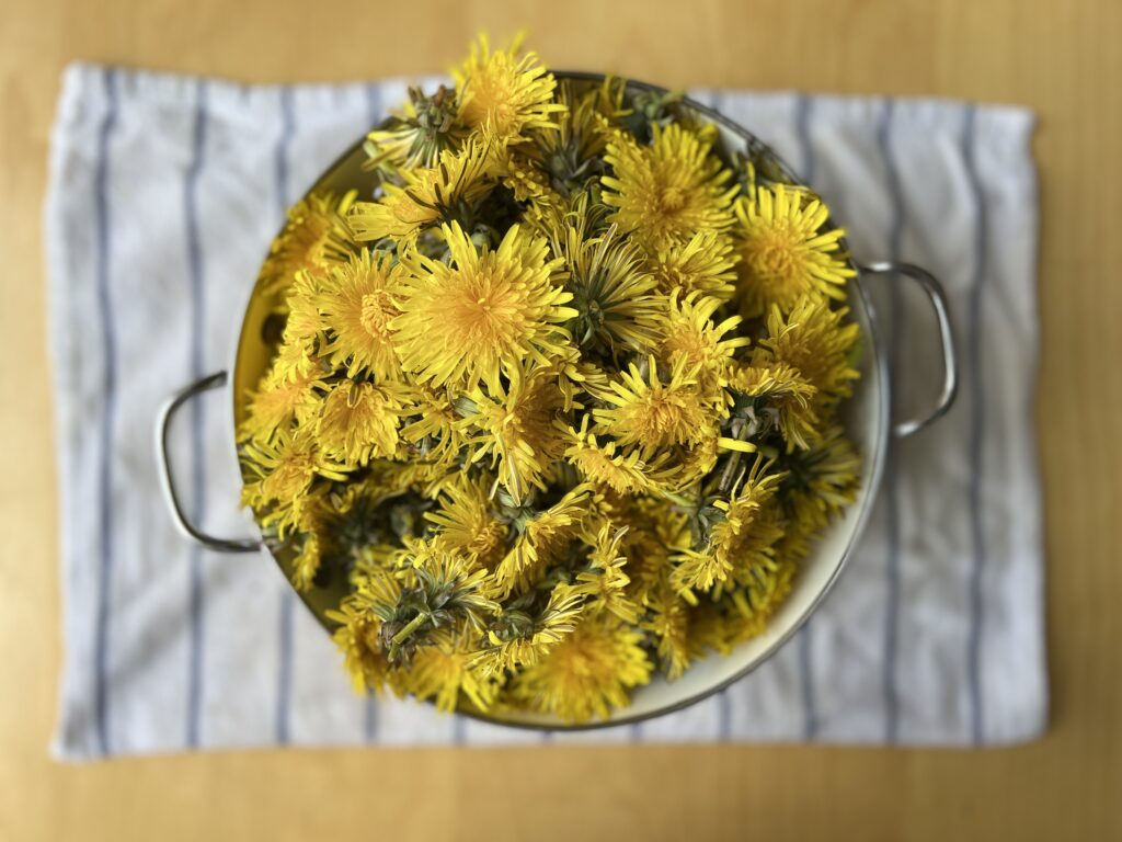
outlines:
[[[187, 167], [184, 190], [184, 217], [187, 226], [187, 266], [191, 277], [191, 378], [203, 376], [204, 333], [206, 301], [203, 291], [202, 239], [199, 235], [199, 175], [202, 173], [206, 147], [206, 88], [199, 83], [195, 103], [192, 158]], [[205, 452], [203, 448], [203, 402], [191, 402], [191, 449], [192, 449], [192, 518], [202, 523], [205, 515], [206, 483]], [[203, 681], [203, 549], [195, 541], [191, 543], [190, 569], [191, 629], [187, 663], [187, 748], [197, 748], [200, 741], [200, 711], [202, 710]]]

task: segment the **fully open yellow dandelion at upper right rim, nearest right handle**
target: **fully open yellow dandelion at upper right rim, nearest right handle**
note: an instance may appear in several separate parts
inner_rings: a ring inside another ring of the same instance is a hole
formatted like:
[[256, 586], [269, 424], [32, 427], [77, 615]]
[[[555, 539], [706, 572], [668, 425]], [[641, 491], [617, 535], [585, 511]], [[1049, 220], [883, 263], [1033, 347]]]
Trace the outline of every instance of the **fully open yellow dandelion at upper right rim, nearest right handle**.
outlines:
[[787, 312], [807, 293], [845, 298], [844, 284], [854, 271], [840, 253], [845, 231], [822, 230], [828, 217], [819, 199], [782, 184], [761, 186], [754, 200], [737, 201], [737, 287], [746, 318], [772, 305]]

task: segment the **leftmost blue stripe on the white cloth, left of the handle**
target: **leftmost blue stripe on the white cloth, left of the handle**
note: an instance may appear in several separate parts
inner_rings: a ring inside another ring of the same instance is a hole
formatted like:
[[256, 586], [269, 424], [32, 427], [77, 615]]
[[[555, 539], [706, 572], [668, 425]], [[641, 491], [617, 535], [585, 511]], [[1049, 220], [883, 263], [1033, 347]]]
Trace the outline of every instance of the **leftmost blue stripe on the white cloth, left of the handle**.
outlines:
[[117, 417], [117, 329], [113, 323], [112, 293], [110, 290], [110, 228], [109, 228], [109, 140], [117, 127], [117, 75], [113, 70], [104, 73], [105, 113], [98, 131], [96, 168], [94, 171], [94, 226], [96, 236], [95, 275], [98, 287], [98, 318], [101, 321], [102, 348], [105, 357], [101, 405], [98, 428], [98, 527], [100, 542], [98, 560], [98, 607], [94, 615], [93, 711], [98, 748], [102, 756], [111, 752], [109, 741], [109, 615], [110, 592], [113, 578], [113, 427]]

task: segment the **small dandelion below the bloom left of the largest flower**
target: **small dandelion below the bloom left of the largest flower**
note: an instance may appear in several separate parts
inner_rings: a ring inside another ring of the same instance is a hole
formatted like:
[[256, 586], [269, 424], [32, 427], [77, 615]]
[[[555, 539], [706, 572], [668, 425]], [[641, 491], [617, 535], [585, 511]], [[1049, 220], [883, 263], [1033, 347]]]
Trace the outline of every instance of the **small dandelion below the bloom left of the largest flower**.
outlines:
[[323, 397], [315, 424], [320, 448], [344, 465], [392, 457], [402, 411], [399, 396], [386, 385], [340, 381]]

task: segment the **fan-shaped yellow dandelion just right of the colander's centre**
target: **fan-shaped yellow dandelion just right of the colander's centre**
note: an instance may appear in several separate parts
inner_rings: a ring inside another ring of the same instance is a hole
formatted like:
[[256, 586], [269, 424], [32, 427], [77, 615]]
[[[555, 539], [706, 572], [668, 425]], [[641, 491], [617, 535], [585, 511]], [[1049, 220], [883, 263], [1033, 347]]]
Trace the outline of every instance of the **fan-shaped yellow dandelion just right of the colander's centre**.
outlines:
[[605, 409], [592, 410], [603, 432], [622, 447], [636, 447], [644, 458], [671, 445], [692, 445], [705, 438], [720, 420], [721, 408], [703, 393], [696, 372], [678, 357], [665, 376], [659, 375], [653, 357], [643, 372], [634, 363], [613, 382]]

